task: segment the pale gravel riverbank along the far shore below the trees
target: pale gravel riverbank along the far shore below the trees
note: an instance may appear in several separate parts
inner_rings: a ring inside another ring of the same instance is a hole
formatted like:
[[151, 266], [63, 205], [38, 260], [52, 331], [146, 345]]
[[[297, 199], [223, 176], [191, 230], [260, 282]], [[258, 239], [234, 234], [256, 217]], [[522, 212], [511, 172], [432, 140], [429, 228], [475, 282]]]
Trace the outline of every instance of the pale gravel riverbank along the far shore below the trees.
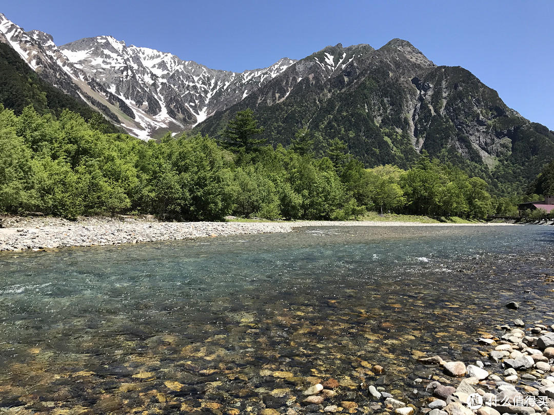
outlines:
[[[120, 245], [199, 237], [276, 234], [301, 226], [459, 226], [412, 222], [161, 222], [153, 217], [2, 217], [0, 251], [49, 250], [59, 247]], [[505, 224], [495, 224], [505, 225]], [[494, 226], [472, 224], [464, 226]]]

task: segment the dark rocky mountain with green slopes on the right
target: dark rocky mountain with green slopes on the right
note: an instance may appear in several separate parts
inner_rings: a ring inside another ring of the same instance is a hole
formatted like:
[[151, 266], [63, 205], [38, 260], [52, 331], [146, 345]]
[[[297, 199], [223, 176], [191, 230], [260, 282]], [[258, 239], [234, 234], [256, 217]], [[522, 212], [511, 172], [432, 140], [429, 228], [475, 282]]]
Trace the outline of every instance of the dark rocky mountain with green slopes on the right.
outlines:
[[468, 70], [437, 66], [401, 39], [378, 50], [327, 46], [197, 130], [218, 137], [245, 108], [270, 142], [286, 146], [309, 128], [340, 138], [368, 167], [407, 168], [427, 151], [484, 178], [497, 194], [521, 193], [554, 159], [554, 132], [507, 107]]

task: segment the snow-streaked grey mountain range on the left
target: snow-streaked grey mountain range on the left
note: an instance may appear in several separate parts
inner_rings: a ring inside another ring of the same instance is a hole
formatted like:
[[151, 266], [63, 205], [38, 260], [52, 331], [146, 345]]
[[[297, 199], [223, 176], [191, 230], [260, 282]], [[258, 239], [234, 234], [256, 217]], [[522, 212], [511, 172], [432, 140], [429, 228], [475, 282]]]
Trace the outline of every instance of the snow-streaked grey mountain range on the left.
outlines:
[[294, 60], [242, 73], [213, 70], [111, 36], [56, 46], [52, 36], [22, 28], [0, 14], [7, 43], [43, 79], [80, 97], [130, 134], [148, 139], [181, 132], [243, 100]]

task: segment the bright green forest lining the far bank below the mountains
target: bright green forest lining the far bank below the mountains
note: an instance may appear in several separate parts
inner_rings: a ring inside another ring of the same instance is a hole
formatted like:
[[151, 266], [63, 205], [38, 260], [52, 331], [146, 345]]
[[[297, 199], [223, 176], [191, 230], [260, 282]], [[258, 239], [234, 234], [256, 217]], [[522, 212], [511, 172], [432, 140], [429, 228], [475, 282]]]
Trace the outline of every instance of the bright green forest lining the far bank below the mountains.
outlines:
[[299, 129], [269, 146], [252, 110], [229, 121], [221, 141], [166, 134], [143, 142], [33, 106], [0, 106], [0, 211], [79, 215], [152, 214], [165, 220], [346, 220], [367, 211], [480, 218], [514, 209], [483, 179], [425, 153], [411, 169], [366, 169], [339, 139], [324, 149]]

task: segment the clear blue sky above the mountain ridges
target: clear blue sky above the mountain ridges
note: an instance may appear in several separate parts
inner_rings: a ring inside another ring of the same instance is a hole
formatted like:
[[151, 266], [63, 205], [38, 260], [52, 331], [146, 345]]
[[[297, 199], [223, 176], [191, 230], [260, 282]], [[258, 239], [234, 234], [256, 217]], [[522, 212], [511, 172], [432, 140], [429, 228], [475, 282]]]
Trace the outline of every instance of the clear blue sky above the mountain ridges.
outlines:
[[327, 45], [406, 39], [463, 66], [506, 104], [554, 130], [554, 1], [11, 0], [0, 12], [62, 45], [112, 35], [213, 69], [264, 68]]

